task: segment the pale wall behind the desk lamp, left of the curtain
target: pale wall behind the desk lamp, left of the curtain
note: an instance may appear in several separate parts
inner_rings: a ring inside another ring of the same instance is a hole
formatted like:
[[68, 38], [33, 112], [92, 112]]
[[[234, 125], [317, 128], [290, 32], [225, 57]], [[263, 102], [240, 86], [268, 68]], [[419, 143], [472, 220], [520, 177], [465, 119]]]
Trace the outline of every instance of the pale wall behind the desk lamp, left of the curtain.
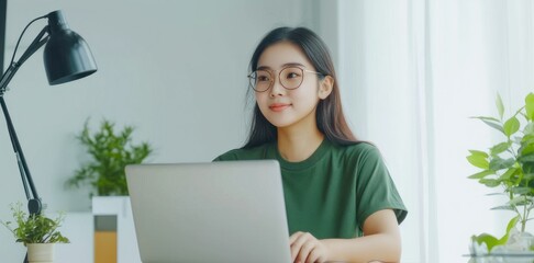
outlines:
[[[92, 127], [103, 117], [119, 127], [136, 126], [134, 138], [156, 149], [152, 162], [210, 161], [240, 147], [246, 135], [246, 72], [253, 49], [275, 26], [313, 28], [314, 7], [305, 0], [9, 1], [7, 59], [31, 20], [60, 9], [90, 45], [99, 67], [93, 76], [49, 87], [40, 50], [4, 95], [48, 210], [89, 209], [87, 190], [64, 188], [85, 159], [75, 135], [89, 116]], [[31, 27], [19, 55], [44, 24]], [[9, 204], [25, 197], [4, 127], [0, 149], [0, 218], [8, 219]], [[0, 230], [2, 262], [22, 261], [23, 251]]]

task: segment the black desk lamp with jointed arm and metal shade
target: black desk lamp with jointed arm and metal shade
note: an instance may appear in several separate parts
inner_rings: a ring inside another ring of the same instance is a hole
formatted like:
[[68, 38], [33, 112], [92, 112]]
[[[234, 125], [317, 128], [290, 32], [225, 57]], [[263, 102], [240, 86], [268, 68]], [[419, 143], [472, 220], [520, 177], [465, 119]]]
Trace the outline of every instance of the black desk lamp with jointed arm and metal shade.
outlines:
[[[47, 19], [48, 24], [38, 33], [19, 60], [15, 61], [16, 49], [24, 32], [33, 22], [42, 19]], [[45, 44], [43, 59], [48, 83], [51, 85], [77, 80], [97, 71], [97, 65], [89, 50], [89, 46], [81, 36], [69, 30], [67, 22], [59, 10], [32, 20], [26, 27], [24, 27], [16, 42], [11, 62], [0, 79], [0, 104], [19, 164], [30, 215], [41, 214], [43, 205], [30, 174], [30, 169], [27, 168], [3, 95], [7, 91], [8, 83], [22, 64]]]

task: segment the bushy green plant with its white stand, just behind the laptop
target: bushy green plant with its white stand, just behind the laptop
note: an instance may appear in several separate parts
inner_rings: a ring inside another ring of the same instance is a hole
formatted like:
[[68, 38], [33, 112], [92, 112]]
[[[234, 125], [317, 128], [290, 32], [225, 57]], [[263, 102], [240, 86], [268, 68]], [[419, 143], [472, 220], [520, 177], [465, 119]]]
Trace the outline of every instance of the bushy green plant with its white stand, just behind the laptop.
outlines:
[[[99, 251], [103, 247], [100, 244], [115, 243], [115, 260], [119, 263], [140, 261], [136, 259], [138, 249], [124, 168], [143, 162], [153, 152], [148, 142], [134, 144], [133, 133], [133, 126], [124, 126], [118, 130], [115, 124], [108, 119], [103, 119], [99, 129], [92, 132], [87, 121], [77, 139], [90, 159], [67, 181], [69, 186], [91, 186], [91, 208], [96, 222], [94, 254], [101, 254]], [[105, 222], [100, 224], [101, 219]], [[110, 232], [114, 232], [111, 238], [108, 235]], [[105, 241], [98, 241], [101, 239]], [[104, 258], [96, 260], [111, 260]]]

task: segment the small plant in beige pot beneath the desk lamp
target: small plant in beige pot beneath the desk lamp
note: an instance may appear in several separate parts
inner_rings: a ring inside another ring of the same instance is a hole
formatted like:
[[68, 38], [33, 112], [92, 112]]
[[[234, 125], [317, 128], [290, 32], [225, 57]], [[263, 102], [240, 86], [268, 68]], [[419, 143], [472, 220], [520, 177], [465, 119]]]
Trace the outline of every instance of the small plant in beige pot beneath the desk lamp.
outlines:
[[[27, 247], [29, 262], [53, 262], [54, 243], [68, 243], [69, 240], [59, 232], [65, 214], [51, 219], [44, 214], [27, 215], [22, 210], [22, 203], [11, 205], [14, 221], [0, 221], [15, 237], [16, 242]], [[15, 226], [12, 226], [12, 225]]]

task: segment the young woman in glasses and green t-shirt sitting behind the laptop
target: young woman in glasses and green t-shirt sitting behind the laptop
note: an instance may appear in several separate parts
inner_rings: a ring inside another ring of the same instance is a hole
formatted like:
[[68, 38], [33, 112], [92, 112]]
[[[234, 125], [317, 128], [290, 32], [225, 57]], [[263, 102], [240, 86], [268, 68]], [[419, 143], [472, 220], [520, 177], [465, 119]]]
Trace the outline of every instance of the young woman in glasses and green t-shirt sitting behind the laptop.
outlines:
[[215, 159], [275, 159], [293, 262], [398, 262], [407, 210], [379, 151], [345, 121], [332, 59], [308, 28], [268, 33], [251, 60], [248, 141]]

